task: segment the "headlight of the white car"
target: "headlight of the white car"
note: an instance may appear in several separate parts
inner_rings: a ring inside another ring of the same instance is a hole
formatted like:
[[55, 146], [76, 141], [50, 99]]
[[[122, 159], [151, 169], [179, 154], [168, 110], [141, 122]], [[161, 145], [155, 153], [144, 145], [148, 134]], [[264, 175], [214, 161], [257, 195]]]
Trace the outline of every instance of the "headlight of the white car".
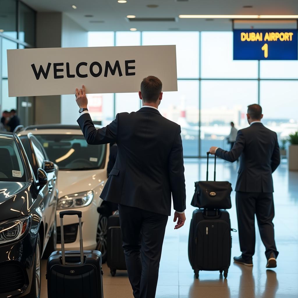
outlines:
[[73, 193], [72, 195], [65, 195], [58, 200], [57, 210], [80, 208], [88, 206], [93, 199], [93, 191], [84, 191], [82, 193]]

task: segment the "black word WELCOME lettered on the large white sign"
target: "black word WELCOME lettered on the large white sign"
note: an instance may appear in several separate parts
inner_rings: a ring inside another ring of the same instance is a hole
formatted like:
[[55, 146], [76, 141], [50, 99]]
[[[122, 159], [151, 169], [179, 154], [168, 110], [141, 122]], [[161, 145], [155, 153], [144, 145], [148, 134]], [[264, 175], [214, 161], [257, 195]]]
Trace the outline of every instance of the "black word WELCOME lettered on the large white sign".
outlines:
[[[136, 60], [125, 60], [124, 61], [125, 76], [136, 75], [135, 72], [130, 72], [130, 70], [136, 68], [134, 65], [130, 65], [131, 63], [136, 63]], [[37, 70], [35, 64], [33, 63], [33, 64], [31, 64], [31, 67], [32, 67], [32, 70], [33, 70], [36, 80], [39, 80], [41, 75], [46, 80], [49, 76], [51, 66], [53, 67], [54, 79], [63, 79], [64, 75], [62, 75], [60, 73], [64, 72], [64, 71], [66, 71], [67, 78], [74, 78], [75, 76], [81, 77], [81, 78], [86, 78], [86, 77], [88, 77], [88, 75], [91, 75], [92, 77], [99, 77], [103, 73], [103, 66], [97, 61], [90, 63], [89, 66], [88, 66], [87, 62], [80, 62], [72, 69], [72, 71], [71, 71], [69, 62], [65, 63], [65, 68], [64, 68], [64, 62], [59, 62], [59, 63], [50, 63], [49, 62], [46, 66], [46, 69], [44, 68], [44, 66], [40, 65], [38, 70]], [[74, 69], [75, 69], [75, 71], [74, 71]], [[119, 77], [122, 77], [123, 74], [122, 74], [122, 69], [121, 69], [119, 60], [115, 61], [114, 66], [112, 66], [112, 64], [109, 61], [105, 61], [103, 76], [108, 77], [109, 74], [112, 76], [115, 76], [116, 72], [118, 73]]]

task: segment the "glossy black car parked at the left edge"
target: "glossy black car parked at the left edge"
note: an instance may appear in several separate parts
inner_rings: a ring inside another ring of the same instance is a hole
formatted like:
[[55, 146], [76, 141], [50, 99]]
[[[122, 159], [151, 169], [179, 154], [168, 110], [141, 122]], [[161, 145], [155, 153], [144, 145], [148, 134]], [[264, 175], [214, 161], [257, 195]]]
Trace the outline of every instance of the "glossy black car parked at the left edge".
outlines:
[[41, 257], [56, 249], [58, 167], [23, 138], [28, 156], [16, 134], [0, 134], [0, 297], [39, 298]]

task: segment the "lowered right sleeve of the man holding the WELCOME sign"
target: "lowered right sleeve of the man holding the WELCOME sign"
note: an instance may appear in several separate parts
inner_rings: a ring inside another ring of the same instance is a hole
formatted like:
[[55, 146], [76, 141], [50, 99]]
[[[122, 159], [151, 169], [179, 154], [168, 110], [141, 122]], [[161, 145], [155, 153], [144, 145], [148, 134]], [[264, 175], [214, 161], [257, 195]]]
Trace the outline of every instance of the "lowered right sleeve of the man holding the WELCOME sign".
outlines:
[[174, 209], [175, 211], [183, 212], [186, 209], [186, 191], [180, 126], [177, 128], [175, 140], [170, 152], [169, 176]]

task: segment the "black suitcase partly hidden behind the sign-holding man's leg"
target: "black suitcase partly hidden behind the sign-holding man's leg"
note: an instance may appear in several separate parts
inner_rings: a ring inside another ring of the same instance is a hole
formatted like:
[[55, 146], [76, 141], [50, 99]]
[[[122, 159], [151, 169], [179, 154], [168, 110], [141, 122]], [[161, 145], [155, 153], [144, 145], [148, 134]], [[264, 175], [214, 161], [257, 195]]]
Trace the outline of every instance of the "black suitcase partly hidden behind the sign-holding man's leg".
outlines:
[[111, 275], [115, 276], [117, 269], [126, 270], [118, 212], [108, 218], [107, 251], [107, 265], [110, 268]]

